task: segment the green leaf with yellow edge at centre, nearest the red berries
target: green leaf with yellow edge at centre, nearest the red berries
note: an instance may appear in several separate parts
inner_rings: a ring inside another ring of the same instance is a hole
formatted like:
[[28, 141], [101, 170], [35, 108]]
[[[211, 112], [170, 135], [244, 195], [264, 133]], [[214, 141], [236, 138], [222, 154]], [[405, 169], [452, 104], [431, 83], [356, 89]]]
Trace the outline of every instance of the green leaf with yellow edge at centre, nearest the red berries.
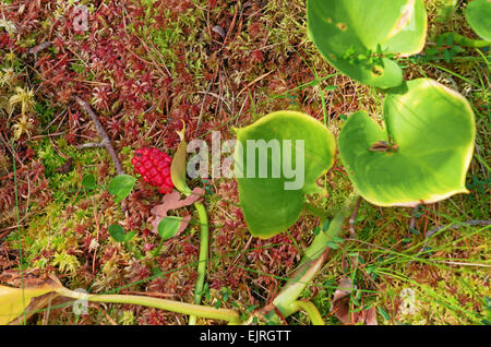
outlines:
[[[304, 194], [322, 192], [315, 181], [333, 164], [334, 136], [318, 120], [294, 111], [270, 113], [236, 131], [235, 174], [246, 223], [252, 235], [270, 238], [297, 222]], [[263, 141], [272, 147], [277, 144], [276, 155], [272, 148], [266, 152], [256, 151], [252, 145], [248, 148], [248, 141], [252, 141], [251, 144]], [[285, 166], [298, 172], [290, 175]], [[263, 172], [261, 177], [261, 170], [267, 175]], [[275, 171], [278, 175], [273, 175]]]

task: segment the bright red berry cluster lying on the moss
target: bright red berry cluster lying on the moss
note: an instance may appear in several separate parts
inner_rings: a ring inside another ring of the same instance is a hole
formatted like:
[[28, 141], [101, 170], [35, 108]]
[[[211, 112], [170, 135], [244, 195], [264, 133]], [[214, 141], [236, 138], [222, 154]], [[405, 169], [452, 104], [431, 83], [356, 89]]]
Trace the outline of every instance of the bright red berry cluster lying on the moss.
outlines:
[[134, 169], [142, 175], [143, 180], [158, 188], [158, 192], [166, 194], [172, 191], [170, 164], [172, 158], [157, 148], [136, 149], [133, 159]]

